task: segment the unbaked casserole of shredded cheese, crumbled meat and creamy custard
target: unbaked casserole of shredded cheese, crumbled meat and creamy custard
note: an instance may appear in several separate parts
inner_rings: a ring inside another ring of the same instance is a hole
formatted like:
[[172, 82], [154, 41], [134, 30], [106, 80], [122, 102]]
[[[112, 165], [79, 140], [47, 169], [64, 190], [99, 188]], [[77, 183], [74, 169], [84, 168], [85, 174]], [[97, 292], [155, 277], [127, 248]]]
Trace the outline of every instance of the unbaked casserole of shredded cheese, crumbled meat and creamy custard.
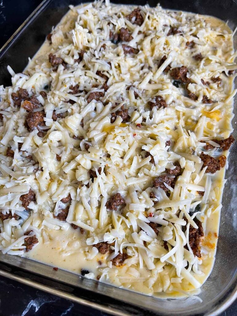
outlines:
[[71, 6], [0, 87], [3, 254], [147, 295], [197, 294], [234, 142], [235, 56], [214, 17]]

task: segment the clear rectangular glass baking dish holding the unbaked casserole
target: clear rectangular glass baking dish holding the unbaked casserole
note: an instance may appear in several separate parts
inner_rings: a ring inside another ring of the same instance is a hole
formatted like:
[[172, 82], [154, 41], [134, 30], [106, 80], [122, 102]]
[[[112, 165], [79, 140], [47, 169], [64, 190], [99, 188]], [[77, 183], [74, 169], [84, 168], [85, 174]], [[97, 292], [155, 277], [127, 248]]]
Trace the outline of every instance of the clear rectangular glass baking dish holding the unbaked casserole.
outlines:
[[[87, 1], [80, 1], [87, 2]], [[132, 1], [114, 3], [135, 4]], [[155, 6], [156, 1], [138, 0], [137, 5], [149, 3]], [[216, 16], [228, 21], [232, 30], [237, 26], [237, 3], [234, 0], [212, 1], [159, 1], [162, 7], [184, 10]], [[7, 65], [15, 72], [21, 72], [40, 48], [53, 25], [57, 25], [68, 11], [69, 4], [77, 5], [78, 0], [44, 0], [40, 6], [21, 25], [10, 40], [0, 50], [0, 85], [10, 85]], [[234, 45], [237, 47], [237, 34]], [[234, 132], [236, 128], [236, 98]], [[52, 270], [52, 267], [10, 255], [0, 254], [0, 275], [34, 286], [35, 288], [88, 305], [113, 315], [159, 315], [159, 316], [214, 316], [225, 310], [237, 297], [237, 144], [231, 149], [228, 158], [228, 179], [222, 198], [221, 224], [217, 244], [216, 262], [211, 275], [201, 288], [198, 296], [181, 300], [162, 300], [151, 296], [112, 285], [88, 280], [73, 273]]]

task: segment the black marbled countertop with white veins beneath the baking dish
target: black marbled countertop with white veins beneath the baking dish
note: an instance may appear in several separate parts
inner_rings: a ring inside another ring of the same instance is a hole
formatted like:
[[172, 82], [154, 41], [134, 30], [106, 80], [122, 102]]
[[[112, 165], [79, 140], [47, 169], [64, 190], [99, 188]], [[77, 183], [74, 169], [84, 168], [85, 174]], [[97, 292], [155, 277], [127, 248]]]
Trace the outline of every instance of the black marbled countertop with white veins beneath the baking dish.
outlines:
[[[0, 47], [40, 2], [41, 0], [0, 0]], [[79, 2], [80, 0], [78, 0]], [[0, 277], [0, 315], [107, 316], [100, 311], [72, 303], [3, 277]], [[237, 302], [220, 316], [236, 315]]]

